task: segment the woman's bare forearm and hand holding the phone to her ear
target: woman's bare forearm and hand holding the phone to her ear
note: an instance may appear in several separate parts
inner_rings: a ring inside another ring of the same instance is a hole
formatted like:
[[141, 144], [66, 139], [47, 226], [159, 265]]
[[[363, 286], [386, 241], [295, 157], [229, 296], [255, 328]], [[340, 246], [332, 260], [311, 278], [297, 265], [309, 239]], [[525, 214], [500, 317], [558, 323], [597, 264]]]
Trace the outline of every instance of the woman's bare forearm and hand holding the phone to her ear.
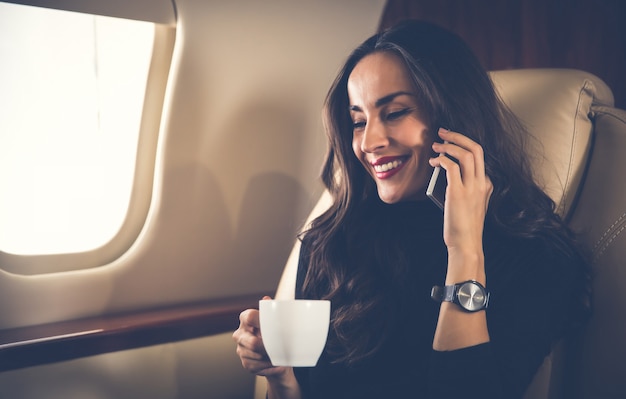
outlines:
[[[439, 129], [439, 136], [446, 143], [433, 144], [440, 156], [431, 159], [430, 164], [443, 167], [448, 180], [444, 210], [444, 241], [448, 248], [445, 284], [476, 280], [487, 286], [482, 237], [493, 185], [485, 174], [482, 147], [446, 129]], [[488, 341], [485, 311], [467, 313], [453, 303], [442, 302], [433, 349], [449, 351]]]

